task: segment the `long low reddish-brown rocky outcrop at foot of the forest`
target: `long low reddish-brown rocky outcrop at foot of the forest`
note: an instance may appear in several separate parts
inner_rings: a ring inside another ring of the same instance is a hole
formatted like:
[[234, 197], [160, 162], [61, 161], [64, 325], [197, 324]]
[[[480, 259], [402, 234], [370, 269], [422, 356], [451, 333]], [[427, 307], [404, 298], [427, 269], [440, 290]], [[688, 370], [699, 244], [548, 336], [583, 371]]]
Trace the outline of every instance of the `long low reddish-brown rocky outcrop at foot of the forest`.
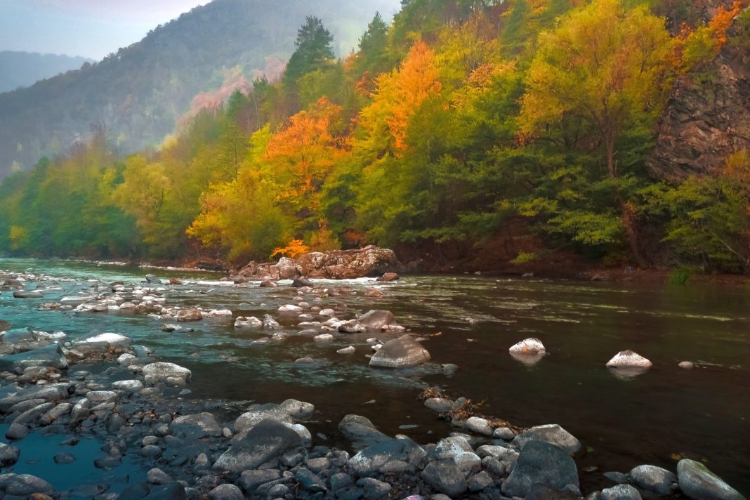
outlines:
[[251, 262], [242, 268], [235, 280], [293, 280], [299, 277], [346, 280], [382, 276], [398, 265], [393, 250], [368, 246], [356, 250], [311, 252], [298, 259], [283, 257], [277, 263]]

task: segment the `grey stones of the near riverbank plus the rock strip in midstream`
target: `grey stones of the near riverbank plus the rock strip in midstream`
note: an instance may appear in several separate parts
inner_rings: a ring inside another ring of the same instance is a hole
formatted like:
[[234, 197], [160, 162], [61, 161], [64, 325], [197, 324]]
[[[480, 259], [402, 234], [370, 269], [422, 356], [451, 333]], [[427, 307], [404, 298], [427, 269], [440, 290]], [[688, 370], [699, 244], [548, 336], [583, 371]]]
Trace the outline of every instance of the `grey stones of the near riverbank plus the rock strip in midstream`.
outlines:
[[[12, 279], [33, 283], [40, 277], [17, 275], [4, 283]], [[368, 337], [372, 370], [398, 370], [430, 357], [419, 337], [407, 334], [389, 311], [353, 315], [337, 304], [322, 307], [323, 300], [344, 289], [302, 286], [293, 304], [279, 307], [276, 317], [259, 319], [224, 309], [177, 307], [165, 296], [167, 285], [154, 276], [146, 281], [110, 283], [93, 295], [42, 307], [149, 315], [163, 322], [165, 331], [230, 321], [235, 328], [266, 331], [269, 343], [284, 340], [280, 321], [291, 316], [299, 335], [315, 343]], [[544, 355], [534, 340], [511, 347], [511, 355]], [[377, 421], [353, 414], [338, 424], [350, 445], [336, 448], [310, 430], [326, 419], [325, 408], [299, 400], [252, 405], [189, 400], [190, 370], [133, 345], [125, 335], [76, 339], [63, 332], [6, 329], [0, 353], [0, 412], [9, 424], [7, 445], [0, 446], [0, 491], [6, 499], [742, 499], [691, 460], [682, 460], [676, 474], [654, 466], [608, 472], [611, 487], [581, 492], [575, 459], [582, 444], [570, 433], [554, 424], [521, 429], [480, 415], [469, 400], [447, 397], [440, 388], [426, 391], [422, 400], [436, 419], [446, 421], [443, 439], [418, 444], [407, 435], [389, 436], [377, 429]], [[14, 474], [13, 465], [24, 460], [24, 440], [36, 433], [70, 445], [69, 452], [55, 455], [61, 466], [77, 460], [77, 442], [101, 442], [102, 454], [94, 459], [101, 482], [82, 494], [55, 491], [43, 477]], [[142, 481], [118, 478], [126, 463], [136, 464]]]

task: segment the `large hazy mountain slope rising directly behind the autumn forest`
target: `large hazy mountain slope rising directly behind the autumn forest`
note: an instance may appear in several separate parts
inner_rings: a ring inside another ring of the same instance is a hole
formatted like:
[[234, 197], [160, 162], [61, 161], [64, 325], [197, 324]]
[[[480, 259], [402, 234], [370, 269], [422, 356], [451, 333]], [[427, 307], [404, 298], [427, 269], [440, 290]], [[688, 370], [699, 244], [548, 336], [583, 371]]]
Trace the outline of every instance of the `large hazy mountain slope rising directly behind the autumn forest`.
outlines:
[[138, 43], [28, 88], [0, 94], [0, 178], [40, 157], [67, 153], [104, 127], [119, 152], [157, 145], [193, 97], [279, 73], [305, 16], [323, 19], [345, 55], [375, 12], [398, 0], [215, 0], [150, 31]]

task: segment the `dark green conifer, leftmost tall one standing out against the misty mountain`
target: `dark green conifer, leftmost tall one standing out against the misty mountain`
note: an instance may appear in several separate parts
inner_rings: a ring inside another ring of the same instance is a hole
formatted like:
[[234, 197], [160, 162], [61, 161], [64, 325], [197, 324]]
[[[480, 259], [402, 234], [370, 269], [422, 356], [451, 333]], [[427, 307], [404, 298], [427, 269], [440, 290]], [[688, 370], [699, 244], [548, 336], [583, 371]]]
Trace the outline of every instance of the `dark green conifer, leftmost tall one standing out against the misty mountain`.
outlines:
[[305, 24], [297, 32], [297, 49], [287, 63], [284, 80], [288, 83], [316, 70], [325, 61], [335, 58], [332, 48], [333, 35], [315, 16], [305, 18]]

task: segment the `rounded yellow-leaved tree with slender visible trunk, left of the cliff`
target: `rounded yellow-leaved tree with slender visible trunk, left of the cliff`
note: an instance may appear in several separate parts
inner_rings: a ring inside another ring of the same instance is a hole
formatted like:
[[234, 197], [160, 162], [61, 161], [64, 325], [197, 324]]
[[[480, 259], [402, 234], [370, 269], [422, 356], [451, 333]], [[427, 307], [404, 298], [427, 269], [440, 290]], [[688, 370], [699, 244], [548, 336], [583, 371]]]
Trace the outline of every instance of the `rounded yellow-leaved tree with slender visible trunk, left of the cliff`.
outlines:
[[[652, 123], [664, 106], [673, 70], [664, 19], [623, 0], [594, 0], [540, 34], [526, 78], [520, 124], [529, 137], [569, 118], [587, 125], [604, 146], [607, 175], [618, 176], [616, 142], [628, 129]], [[628, 243], [640, 265], [634, 208], [615, 190]]]

